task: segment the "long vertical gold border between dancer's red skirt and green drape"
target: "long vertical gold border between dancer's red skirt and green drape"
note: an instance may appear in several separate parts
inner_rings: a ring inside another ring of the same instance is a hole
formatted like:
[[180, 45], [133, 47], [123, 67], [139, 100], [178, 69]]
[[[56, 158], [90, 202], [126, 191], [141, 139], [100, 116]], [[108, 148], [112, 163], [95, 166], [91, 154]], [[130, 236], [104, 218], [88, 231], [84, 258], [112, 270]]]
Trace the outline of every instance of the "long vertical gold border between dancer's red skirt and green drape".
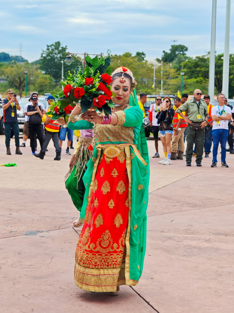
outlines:
[[125, 237], [125, 246], [126, 246], [126, 257], [125, 257], [125, 280], [126, 285], [131, 285], [130, 280], [130, 223], [131, 223], [131, 208], [132, 208], [132, 161], [131, 161], [131, 154], [130, 154], [130, 147], [125, 147], [125, 153], [126, 153], [126, 168], [128, 173], [128, 179], [129, 179], [129, 213], [128, 213], [128, 228], [127, 233]]

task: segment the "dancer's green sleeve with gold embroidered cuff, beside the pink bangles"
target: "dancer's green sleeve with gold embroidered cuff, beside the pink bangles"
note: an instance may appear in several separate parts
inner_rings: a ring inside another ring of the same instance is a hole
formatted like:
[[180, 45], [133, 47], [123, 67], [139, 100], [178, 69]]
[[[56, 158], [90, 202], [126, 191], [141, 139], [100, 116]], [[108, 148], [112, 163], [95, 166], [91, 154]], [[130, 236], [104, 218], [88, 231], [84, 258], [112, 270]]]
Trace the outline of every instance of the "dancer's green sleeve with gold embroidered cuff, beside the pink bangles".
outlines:
[[117, 111], [115, 114], [118, 116], [116, 125], [123, 125], [125, 127], [140, 126], [143, 121], [143, 112], [139, 106], [132, 106], [124, 111]]

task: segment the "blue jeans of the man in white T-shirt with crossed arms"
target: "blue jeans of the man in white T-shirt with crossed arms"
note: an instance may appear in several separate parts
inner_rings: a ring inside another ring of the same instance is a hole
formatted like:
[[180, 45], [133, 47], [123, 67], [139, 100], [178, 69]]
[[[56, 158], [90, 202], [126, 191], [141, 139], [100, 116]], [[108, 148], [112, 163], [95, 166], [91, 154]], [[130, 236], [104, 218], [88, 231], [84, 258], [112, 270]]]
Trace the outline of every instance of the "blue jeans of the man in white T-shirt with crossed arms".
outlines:
[[226, 143], [227, 143], [227, 136], [228, 136], [228, 129], [213, 129], [212, 130], [213, 136], [213, 160], [217, 162], [217, 153], [218, 153], [218, 146], [219, 142], [221, 145], [221, 162], [226, 161]]

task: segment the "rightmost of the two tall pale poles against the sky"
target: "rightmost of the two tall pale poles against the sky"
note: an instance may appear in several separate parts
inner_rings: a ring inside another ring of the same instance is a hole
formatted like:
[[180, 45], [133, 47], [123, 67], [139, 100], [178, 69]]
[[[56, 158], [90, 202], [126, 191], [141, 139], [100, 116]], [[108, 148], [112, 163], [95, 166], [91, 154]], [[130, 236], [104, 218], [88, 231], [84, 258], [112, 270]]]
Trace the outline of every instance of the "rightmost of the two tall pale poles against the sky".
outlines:
[[223, 54], [223, 83], [222, 83], [222, 92], [227, 97], [227, 99], [228, 99], [228, 84], [229, 84], [230, 11], [231, 11], [231, 0], [227, 0], [225, 43], [224, 43], [224, 54]]

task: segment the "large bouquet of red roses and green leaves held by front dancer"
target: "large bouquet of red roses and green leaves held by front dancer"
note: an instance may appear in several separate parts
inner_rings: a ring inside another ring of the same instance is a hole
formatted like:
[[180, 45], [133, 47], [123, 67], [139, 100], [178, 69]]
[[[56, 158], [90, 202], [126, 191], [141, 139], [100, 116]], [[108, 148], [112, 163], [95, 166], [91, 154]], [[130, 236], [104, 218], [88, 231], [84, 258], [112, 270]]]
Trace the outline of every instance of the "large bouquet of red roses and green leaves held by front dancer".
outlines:
[[114, 96], [110, 86], [112, 79], [105, 73], [110, 67], [110, 57], [99, 59], [95, 56], [91, 59], [87, 54], [85, 60], [84, 71], [80, 68], [73, 75], [69, 72], [66, 81], [61, 82], [64, 87], [63, 96], [57, 99], [60, 108], [65, 109], [68, 105], [74, 107], [76, 103], [80, 103], [82, 113], [98, 109], [109, 117], [111, 107], [114, 107], [111, 100]]

